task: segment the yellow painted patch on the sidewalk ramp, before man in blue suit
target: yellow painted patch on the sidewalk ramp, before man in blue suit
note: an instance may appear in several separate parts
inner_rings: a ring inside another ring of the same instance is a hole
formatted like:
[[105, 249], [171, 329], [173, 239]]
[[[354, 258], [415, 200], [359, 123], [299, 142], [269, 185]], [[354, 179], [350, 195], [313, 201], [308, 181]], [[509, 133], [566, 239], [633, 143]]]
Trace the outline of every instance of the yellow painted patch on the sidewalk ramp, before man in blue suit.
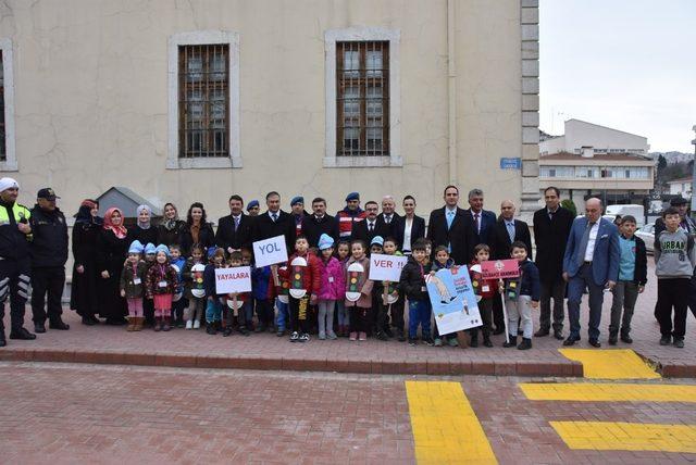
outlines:
[[595, 379], [657, 379], [655, 373], [631, 349], [559, 349], [567, 359], [583, 364], [585, 378]]

